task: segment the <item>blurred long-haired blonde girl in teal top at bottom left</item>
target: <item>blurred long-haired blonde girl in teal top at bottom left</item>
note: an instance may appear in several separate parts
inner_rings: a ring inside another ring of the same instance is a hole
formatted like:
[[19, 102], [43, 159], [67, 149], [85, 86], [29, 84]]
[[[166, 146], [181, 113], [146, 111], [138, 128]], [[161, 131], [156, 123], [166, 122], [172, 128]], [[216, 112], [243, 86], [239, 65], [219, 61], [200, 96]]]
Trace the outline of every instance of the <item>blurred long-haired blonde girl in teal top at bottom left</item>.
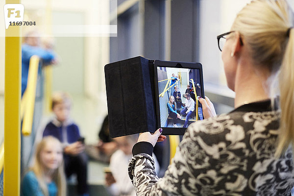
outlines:
[[22, 181], [21, 196], [66, 196], [61, 143], [47, 136], [38, 144], [35, 162]]

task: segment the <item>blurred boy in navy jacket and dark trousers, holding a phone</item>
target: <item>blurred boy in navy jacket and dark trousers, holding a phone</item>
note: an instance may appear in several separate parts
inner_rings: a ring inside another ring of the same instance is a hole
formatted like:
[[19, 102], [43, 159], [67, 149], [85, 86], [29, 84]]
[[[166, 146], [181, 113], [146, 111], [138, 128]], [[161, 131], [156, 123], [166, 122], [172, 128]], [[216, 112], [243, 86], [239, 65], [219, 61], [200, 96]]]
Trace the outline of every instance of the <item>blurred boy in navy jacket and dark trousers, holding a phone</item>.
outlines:
[[69, 118], [71, 111], [69, 95], [64, 92], [54, 93], [52, 110], [55, 118], [46, 125], [43, 137], [50, 135], [62, 143], [66, 176], [70, 177], [75, 173], [78, 194], [88, 196], [87, 155], [84, 152], [83, 142], [78, 141], [80, 138], [78, 126]]

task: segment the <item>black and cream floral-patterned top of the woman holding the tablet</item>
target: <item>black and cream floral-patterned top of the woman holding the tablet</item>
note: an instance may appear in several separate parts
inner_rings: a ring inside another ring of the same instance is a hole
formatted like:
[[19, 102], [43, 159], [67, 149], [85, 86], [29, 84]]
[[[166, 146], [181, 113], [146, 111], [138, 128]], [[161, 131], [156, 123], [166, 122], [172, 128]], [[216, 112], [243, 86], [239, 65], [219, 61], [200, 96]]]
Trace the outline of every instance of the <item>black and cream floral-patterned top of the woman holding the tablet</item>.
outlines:
[[158, 179], [152, 145], [137, 143], [128, 172], [138, 196], [289, 196], [292, 147], [274, 158], [280, 113], [270, 100], [191, 124]]

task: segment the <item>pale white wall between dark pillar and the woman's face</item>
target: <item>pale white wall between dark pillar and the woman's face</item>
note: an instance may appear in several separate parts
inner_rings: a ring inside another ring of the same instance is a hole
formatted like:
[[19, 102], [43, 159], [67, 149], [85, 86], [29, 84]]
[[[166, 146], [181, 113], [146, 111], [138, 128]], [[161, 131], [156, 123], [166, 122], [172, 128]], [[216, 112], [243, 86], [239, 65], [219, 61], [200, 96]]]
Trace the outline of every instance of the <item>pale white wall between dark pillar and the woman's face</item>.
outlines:
[[[219, 86], [228, 96], [234, 96], [226, 87], [226, 79], [218, 48], [217, 36], [228, 32], [236, 14], [251, 0], [200, 0], [199, 62], [203, 65], [205, 89]], [[292, 9], [294, 1], [288, 0]], [[207, 88], [208, 87], [208, 88]]]

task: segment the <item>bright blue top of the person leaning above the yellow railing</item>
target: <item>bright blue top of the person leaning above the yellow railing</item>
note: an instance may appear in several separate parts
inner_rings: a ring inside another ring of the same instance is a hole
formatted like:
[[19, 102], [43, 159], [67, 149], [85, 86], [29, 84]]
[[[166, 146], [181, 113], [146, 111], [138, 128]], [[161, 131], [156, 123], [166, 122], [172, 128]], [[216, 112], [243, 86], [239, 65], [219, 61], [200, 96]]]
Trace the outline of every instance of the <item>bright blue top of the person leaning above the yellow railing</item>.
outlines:
[[[53, 52], [49, 50], [45, 50], [40, 47], [30, 46], [27, 44], [24, 44], [22, 46], [22, 96], [24, 95], [26, 89], [29, 59], [33, 55], [39, 56], [43, 64], [49, 64], [55, 58]], [[41, 67], [39, 64], [39, 73], [40, 71]]]

